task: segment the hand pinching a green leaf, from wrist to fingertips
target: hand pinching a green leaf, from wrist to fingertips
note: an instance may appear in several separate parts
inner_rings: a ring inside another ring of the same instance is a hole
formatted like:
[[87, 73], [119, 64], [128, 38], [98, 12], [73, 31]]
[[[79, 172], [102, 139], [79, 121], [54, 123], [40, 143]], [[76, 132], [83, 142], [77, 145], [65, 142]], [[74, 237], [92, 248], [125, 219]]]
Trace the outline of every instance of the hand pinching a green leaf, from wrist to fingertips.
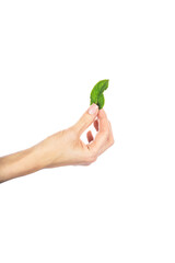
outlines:
[[[94, 123], [97, 135], [94, 139], [89, 130], [86, 134], [89, 144], [85, 145], [80, 137], [92, 123]], [[38, 144], [38, 147], [44, 152], [42, 157], [42, 160], [45, 161], [44, 168], [54, 168], [88, 165], [113, 144], [112, 126], [105, 111], [103, 108], [98, 111], [98, 107], [92, 104], [77, 124], [49, 136]]]

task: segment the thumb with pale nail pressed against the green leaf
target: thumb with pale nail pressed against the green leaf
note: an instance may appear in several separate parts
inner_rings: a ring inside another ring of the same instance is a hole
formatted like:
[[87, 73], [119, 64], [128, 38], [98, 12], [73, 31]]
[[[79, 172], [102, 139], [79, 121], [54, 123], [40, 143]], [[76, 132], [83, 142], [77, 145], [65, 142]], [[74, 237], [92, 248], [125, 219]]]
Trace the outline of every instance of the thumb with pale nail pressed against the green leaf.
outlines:
[[94, 122], [97, 113], [98, 106], [93, 103], [74, 125], [80, 135]]

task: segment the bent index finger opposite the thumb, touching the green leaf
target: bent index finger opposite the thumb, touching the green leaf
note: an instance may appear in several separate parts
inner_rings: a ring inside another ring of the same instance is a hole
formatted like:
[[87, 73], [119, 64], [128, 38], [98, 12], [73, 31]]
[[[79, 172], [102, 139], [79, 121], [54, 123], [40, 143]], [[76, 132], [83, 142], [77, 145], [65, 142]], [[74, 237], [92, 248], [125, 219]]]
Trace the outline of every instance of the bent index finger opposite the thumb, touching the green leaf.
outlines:
[[[105, 111], [102, 108], [98, 111], [98, 133], [95, 137], [95, 140], [89, 146], [89, 148], [95, 152], [95, 155], [101, 155], [109, 146], [114, 144], [112, 126], [107, 119]], [[97, 124], [94, 124], [95, 128]]]

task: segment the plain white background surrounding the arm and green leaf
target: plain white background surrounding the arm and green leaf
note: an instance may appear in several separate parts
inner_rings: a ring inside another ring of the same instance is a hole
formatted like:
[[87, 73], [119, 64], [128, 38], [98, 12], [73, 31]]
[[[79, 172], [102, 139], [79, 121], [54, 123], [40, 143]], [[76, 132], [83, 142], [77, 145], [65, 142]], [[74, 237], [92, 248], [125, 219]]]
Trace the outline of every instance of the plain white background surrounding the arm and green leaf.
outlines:
[[0, 1], [0, 156], [74, 124], [109, 79], [115, 145], [0, 185], [0, 262], [175, 262], [174, 1]]

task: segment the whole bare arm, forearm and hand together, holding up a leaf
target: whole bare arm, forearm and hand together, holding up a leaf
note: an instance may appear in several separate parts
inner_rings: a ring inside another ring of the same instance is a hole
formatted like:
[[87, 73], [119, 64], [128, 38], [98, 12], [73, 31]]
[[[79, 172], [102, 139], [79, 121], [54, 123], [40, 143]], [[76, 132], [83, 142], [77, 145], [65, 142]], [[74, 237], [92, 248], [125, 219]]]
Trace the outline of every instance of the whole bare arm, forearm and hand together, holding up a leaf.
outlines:
[[[95, 138], [86, 133], [89, 144], [80, 137], [91, 124]], [[42, 169], [63, 165], [89, 165], [114, 144], [112, 126], [104, 110], [95, 104], [71, 127], [58, 132], [37, 145], [0, 158], [0, 182], [34, 173]]]

